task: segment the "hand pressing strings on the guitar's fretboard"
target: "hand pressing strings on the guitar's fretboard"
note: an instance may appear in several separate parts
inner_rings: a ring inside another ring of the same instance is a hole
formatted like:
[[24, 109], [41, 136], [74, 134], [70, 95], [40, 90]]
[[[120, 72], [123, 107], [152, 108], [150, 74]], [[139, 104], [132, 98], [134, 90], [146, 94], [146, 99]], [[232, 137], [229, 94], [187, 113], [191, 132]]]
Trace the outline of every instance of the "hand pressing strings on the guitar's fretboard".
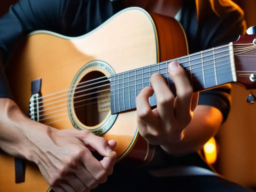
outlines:
[[[183, 67], [173, 61], [168, 71], [176, 87], [176, 97], [164, 77], [155, 73], [151, 77], [152, 87], [144, 88], [136, 98], [138, 131], [153, 145], [165, 146], [182, 140], [198, 102], [198, 93], [193, 94]], [[152, 110], [148, 98], [154, 92], [157, 107]]]

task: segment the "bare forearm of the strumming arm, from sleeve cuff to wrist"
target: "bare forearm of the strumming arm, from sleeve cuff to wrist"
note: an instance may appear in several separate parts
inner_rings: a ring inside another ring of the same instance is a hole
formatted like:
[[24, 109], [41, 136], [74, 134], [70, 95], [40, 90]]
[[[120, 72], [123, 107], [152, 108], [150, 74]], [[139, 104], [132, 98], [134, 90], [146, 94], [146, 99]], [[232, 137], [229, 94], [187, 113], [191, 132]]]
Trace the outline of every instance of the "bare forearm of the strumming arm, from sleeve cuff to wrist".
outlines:
[[32, 161], [30, 138], [32, 134], [40, 134], [38, 131], [43, 127], [27, 118], [13, 100], [0, 99], [0, 148], [7, 154]]

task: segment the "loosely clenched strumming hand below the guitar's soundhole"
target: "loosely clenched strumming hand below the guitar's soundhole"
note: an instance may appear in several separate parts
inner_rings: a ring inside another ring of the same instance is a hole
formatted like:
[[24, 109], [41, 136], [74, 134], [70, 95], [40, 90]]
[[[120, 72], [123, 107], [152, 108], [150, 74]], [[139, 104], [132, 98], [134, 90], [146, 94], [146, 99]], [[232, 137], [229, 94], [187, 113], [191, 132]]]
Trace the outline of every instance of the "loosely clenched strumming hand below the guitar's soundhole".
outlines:
[[[52, 127], [41, 132], [40, 138], [41, 141], [33, 141], [32, 160], [55, 192], [89, 192], [112, 174], [115, 141], [107, 141], [87, 130]], [[104, 158], [98, 161], [91, 151]]]

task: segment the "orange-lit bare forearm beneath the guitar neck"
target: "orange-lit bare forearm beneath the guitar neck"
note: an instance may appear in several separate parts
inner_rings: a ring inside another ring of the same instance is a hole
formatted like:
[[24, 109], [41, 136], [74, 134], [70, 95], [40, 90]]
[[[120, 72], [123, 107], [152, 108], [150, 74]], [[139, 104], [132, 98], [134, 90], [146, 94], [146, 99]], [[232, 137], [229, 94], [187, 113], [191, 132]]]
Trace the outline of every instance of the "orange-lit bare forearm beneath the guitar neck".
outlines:
[[221, 112], [211, 106], [198, 105], [191, 123], [184, 130], [184, 137], [177, 143], [162, 148], [170, 154], [183, 155], [200, 150], [214, 136], [222, 122]]

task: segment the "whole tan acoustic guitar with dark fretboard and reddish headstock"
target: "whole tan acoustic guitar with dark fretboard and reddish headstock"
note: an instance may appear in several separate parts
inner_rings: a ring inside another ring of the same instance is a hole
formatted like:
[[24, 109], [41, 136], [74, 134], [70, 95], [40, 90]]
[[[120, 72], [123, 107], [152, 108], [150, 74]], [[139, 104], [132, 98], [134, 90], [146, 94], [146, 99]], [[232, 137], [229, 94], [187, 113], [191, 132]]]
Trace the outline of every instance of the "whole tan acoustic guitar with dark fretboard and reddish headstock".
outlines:
[[[189, 55], [179, 22], [131, 7], [80, 37], [30, 33], [10, 55], [6, 75], [16, 103], [32, 120], [116, 140], [117, 162], [133, 159], [143, 165], [155, 148], [138, 133], [135, 98], [151, 86], [152, 74], [161, 73], [175, 92], [167, 66], [176, 60], [195, 92], [227, 83], [252, 90], [255, 49], [252, 34]], [[156, 105], [155, 94], [149, 102]], [[252, 93], [247, 102], [255, 103]], [[24, 162], [0, 155], [0, 191], [51, 191], [39, 169]]]

